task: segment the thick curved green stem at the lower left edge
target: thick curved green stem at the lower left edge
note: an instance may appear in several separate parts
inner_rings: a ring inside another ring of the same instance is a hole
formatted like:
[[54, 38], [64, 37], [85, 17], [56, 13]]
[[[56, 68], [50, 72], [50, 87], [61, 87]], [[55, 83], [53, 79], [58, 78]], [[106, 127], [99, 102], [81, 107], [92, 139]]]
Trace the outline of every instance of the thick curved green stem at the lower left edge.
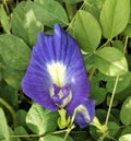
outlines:
[[4, 99], [2, 99], [0, 97], [0, 104], [2, 104], [12, 115], [13, 121], [14, 121], [14, 116], [15, 116], [15, 110], [13, 109], [13, 107], [11, 105], [9, 105]]

